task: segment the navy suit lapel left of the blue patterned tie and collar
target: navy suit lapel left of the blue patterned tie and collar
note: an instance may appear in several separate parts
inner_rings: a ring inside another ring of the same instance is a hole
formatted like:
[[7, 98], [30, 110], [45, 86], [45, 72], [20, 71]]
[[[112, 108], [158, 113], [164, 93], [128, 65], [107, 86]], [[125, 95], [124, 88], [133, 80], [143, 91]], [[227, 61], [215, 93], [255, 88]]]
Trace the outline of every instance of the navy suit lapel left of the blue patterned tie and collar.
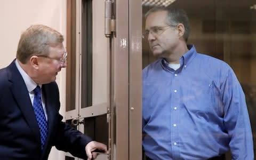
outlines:
[[36, 121], [36, 116], [34, 113], [33, 106], [31, 104], [28, 90], [25, 82], [19, 70], [15, 66], [13, 61], [10, 66], [7, 67], [7, 73], [9, 81], [12, 82], [11, 90], [14, 99], [17, 101], [20, 110], [22, 111], [27, 124], [29, 125], [31, 131], [34, 133], [36, 140], [40, 143], [40, 132]]

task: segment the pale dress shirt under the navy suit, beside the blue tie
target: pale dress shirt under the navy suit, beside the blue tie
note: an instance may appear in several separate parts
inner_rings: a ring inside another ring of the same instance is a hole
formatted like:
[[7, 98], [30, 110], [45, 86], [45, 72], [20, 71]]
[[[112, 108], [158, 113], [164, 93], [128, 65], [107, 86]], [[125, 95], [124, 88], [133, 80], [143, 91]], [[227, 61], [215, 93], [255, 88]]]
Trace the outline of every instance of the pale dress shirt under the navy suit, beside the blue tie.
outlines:
[[[37, 84], [35, 83], [35, 81], [33, 81], [33, 79], [31, 79], [28, 74], [21, 68], [21, 66], [19, 65], [17, 59], [15, 60], [15, 65], [16, 67], [18, 68], [26, 86], [27, 86], [27, 89], [28, 89], [28, 93], [29, 93], [29, 98], [30, 98], [30, 101], [31, 101], [31, 104], [33, 105], [34, 103], [34, 97], [35, 97], [35, 94], [34, 94], [34, 89], [36, 88]], [[41, 98], [42, 98], [42, 106], [43, 106], [43, 109], [44, 109], [44, 114], [45, 114], [45, 118], [46, 118], [46, 121], [47, 121], [47, 113], [46, 113], [46, 108], [45, 108], [45, 100], [44, 100], [44, 94], [42, 94], [42, 85], [39, 85], [40, 88], [41, 88]]]

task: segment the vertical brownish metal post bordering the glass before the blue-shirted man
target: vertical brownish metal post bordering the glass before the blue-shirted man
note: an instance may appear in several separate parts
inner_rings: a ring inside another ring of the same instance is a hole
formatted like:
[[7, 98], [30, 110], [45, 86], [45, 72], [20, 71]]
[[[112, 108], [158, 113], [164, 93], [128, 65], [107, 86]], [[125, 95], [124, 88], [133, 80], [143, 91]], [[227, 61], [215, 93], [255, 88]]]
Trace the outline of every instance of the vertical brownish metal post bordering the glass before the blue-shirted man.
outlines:
[[129, 0], [129, 160], [142, 159], [142, 5]]

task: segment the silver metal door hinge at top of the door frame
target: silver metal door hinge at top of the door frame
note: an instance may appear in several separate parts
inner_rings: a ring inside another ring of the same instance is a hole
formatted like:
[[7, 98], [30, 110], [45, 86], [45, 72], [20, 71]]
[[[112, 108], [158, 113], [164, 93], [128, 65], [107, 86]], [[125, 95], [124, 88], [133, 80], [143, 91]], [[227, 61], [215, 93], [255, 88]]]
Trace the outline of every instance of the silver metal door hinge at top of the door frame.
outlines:
[[105, 36], [115, 36], [116, 20], [115, 20], [115, 2], [111, 0], [105, 1]]

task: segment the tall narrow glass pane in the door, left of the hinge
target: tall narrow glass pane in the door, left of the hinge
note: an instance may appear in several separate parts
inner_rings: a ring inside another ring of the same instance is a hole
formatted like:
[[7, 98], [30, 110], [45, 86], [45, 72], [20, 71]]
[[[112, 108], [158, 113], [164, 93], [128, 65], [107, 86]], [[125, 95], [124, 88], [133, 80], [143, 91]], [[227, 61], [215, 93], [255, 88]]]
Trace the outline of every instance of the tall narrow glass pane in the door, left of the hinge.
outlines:
[[107, 38], [105, 3], [83, 0], [82, 7], [82, 108], [107, 102]]

